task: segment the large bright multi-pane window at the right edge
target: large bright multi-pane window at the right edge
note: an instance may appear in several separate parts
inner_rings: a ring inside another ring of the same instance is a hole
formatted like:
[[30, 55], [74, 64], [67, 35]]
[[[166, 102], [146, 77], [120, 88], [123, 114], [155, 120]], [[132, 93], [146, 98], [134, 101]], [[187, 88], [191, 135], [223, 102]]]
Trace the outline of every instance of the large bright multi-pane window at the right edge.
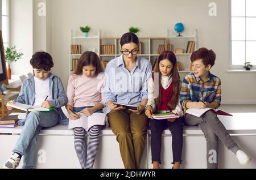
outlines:
[[230, 0], [232, 68], [245, 62], [256, 66], [256, 1]]

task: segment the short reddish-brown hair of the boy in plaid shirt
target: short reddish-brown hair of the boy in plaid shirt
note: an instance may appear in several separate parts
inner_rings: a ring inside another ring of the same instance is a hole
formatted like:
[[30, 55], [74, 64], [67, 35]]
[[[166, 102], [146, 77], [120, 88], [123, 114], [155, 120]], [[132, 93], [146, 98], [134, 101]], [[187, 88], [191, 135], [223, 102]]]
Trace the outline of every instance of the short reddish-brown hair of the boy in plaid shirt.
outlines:
[[192, 53], [190, 59], [191, 62], [202, 59], [202, 62], [205, 66], [213, 66], [215, 63], [216, 54], [213, 52], [212, 49], [208, 50], [207, 48], [200, 48]]

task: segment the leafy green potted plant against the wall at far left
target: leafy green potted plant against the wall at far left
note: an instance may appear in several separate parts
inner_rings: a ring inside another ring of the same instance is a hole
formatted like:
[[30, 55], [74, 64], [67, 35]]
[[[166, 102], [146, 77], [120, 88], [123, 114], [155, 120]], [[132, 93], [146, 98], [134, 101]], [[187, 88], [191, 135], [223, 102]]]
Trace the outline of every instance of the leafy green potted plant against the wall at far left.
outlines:
[[12, 48], [8, 48], [8, 47], [5, 48], [5, 61], [8, 63], [8, 68], [7, 68], [8, 79], [11, 79], [10, 64], [20, 59], [22, 55], [23, 53], [17, 52], [16, 46], [13, 46]]

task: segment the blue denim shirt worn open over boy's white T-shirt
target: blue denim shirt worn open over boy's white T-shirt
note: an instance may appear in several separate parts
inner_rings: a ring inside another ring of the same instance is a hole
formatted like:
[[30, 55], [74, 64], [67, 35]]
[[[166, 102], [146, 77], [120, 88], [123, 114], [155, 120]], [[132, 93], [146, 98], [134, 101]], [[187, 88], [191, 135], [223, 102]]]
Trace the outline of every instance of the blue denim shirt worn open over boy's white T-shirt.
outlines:
[[[19, 96], [14, 102], [20, 102], [22, 104], [33, 105], [35, 102], [35, 75], [27, 78], [22, 83], [22, 87], [19, 92]], [[63, 84], [60, 78], [51, 72], [49, 72], [49, 91], [52, 95], [51, 106], [55, 107], [59, 115], [59, 122], [61, 125], [68, 125], [68, 118], [65, 116], [61, 110], [61, 106], [65, 106], [68, 102], [68, 97], [65, 95]], [[26, 117], [29, 112], [26, 112]], [[20, 119], [18, 121], [19, 126], [24, 126], [26, 119]]]

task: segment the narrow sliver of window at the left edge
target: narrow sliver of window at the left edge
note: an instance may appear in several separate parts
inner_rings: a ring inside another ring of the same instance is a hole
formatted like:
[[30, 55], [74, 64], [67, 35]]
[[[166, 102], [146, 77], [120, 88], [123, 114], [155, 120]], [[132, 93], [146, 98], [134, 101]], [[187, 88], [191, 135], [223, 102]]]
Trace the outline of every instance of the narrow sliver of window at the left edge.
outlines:
[[3, 35], [3, 46], [10, 46], [10, 15], [9, 5], [10, 0], [2, 0], [2, 35]]

